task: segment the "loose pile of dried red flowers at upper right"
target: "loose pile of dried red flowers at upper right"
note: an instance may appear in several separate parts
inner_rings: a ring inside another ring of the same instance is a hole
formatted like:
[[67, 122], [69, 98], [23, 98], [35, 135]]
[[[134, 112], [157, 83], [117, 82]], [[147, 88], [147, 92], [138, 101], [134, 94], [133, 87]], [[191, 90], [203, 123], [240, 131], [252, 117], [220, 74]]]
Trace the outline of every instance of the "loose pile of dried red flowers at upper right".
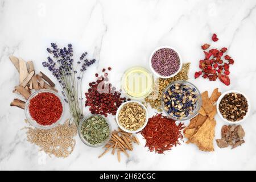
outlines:
[[[212, 40], [216, 42], [218, 40], [217, 35], [213, 34]], [[210, 81], [216, 81], [217, 78], [220, 79], [225, 85], [230, 84], [229, 78], [229, 65], [234, 64], [234, 60], [229, 55], [225, 55], [224, 60], [222, 56], [228, 50], [224, 47], [220, 50], [210, 49], [208, 52], [205, 51], [210, 47], [209, 44], [204, 44], [201, 48], [204, 50], [205, 59], [200, 60], [199, 68], [201, 71], [195, 72], [195, 78], [198, 78], [202, 75], [203, 78], [209, 78]]]

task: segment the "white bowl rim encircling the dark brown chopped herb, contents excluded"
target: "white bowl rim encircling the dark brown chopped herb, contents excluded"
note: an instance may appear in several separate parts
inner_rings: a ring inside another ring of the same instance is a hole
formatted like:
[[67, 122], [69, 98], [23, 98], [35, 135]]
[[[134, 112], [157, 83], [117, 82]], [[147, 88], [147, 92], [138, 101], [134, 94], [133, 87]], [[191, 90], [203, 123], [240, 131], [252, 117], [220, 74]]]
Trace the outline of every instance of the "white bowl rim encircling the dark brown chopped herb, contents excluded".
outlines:
[[[246, 100], [247, 100], [247, 104], [248, 104], [247, 113], [246, 113], [246, 115], [243, 117], [243, 119], [240, 119], [239, 121], [229, 121], [228, 119], [225, 119], [225, 118], [223, 117], [223, 115], [221, 114], [221, 112], [220, 112], [220, 109], [219, 109], [220, 102], [221, 102], [222, 98], [223, 98], [224, 96], [226, 96], [226, 94], [229, 94], [229, 93], [239, 93], [239, 94], [242, 94], [242, 95], [246, 98]], [[226, 123], [229, 123], [229, 124], [238, 124], [238, 123], [241, 123], [241, 122], [245, 121], [246, 118], [249, 116], [249, 113], [250, 113], [250, 110], [251, 110], [251, 104], [250, 104], [249, 98], [246, 96], [245, 93], [242, 93], [242, 92], [240, 92], [240, 91], [238, 91], [238, 90], [229, 90], [229, 91], [227, 91], [227, 92], [222, 93], [221, 96], [218, 98], [216, 105], [217, 105], [217, 113], [218, 113], [218, 115], [220, 116], [220, 118], [221, 118], [222, 120], [224, 120]]]

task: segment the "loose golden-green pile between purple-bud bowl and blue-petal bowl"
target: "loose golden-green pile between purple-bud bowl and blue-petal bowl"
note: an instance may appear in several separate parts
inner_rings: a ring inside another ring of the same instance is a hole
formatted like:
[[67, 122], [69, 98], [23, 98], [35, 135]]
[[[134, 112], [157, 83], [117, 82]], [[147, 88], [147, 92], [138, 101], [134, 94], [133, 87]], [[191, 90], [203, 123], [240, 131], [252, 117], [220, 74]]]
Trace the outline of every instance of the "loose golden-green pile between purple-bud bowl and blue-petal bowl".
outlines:
[[161, 97], [163, 94], [163, 90], [168, 86], [171, 82], [177, 80], [188, 80], [188, 70], [191, 63], [185, 63], [182, 65], [181, 71], [174, 77], [171, 78], [158, 78], [156, 80], [155, 88], [153, 92], [145, 98], [145, 101], [150, 104], [153, 109], [157, 109], [158, 111], [162, 111], [161, 109]]

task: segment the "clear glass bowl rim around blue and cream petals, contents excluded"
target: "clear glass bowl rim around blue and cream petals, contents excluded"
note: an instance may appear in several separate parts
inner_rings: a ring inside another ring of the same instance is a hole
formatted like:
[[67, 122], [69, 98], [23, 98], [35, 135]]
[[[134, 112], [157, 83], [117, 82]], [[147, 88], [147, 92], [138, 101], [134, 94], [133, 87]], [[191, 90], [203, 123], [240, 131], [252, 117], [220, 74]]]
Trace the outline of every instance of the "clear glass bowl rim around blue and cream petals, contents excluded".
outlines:
[[[163, 100], [164, 100], [164, 98], [163, 98], [164, 93], [165, 93], [172, 85], [174, 85], [174, 84], [185, 84], [185, 85], [191, 86], [191, 88], [195, 88], [195, 89], [196, 89], [196, 92], [197, 92], [197, 94], [198, 94], [198, 97], [199, 97], [199, 99], [197, 100], [196, 108], [193, 110], [193, 114], [189, 114], [187, 117], [184, 117], [184, 118], [181, 118], [181, 119], [180, 119], [180, 118], [177, 118], [177, 117], [174, 117], [174, 116], [172, 116], [172, 115], [170, 115], [170, 114], [168, 114], [167, 111], [164, 109], [164, 101], [163, 101]], [[191, 118], [196, 117], [196, 115], [199, 113], [199, 110], [200, 110], [200, 108], [201, 108], [201, 106], [202, 106], [201, 93], [200, 93], [199, 89], [197, 89], [197, 87], [196, 87], [195, 85], [193, 85], [191, 82], [183, 81], [183, 80], [174, 81], [174, 82], [171, 82], [171, 84], [168, 85], [168, 86], [164, 89], [164, 91], [163, 91], [163, 93], [162, 93], [162, 97], [161, 97], [161, 104], [162, 104], [162, 109], [163, 109], [164, 113], [166, 113], [170, 118], [172, 118], [172, 119], [174, 119], [174, 120], [176, 120], [176, 121], [185, 121], [185, 120], [189, 120], [189, 119], [191, 119]]]

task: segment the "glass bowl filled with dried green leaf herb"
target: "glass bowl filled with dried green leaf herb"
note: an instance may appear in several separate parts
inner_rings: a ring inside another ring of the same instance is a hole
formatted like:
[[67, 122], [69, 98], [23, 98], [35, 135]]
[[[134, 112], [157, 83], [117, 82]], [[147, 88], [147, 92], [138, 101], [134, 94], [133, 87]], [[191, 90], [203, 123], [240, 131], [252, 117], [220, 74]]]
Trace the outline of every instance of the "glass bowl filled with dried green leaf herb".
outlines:
[[112, 128], [108, 119], [100, 114], [91, 114], [79, 124], [79, 137], [89, 147], [101, 147], [111, 137]]

